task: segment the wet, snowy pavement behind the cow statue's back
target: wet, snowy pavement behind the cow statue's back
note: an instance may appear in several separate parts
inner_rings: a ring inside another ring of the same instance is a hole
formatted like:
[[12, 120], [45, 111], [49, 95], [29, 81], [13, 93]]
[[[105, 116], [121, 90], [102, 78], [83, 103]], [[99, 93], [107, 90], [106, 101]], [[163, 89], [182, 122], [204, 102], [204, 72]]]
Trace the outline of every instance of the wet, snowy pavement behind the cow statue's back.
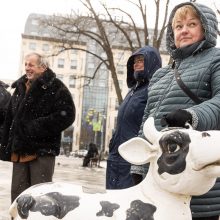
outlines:
[[[101, 161], [100, 167], [82, 167], [82, 158], [58, 156], [53, 181], [72, 182], [95, 190], [105, 189], [106, 161]], [[10, 220], [12, 163], [0, 161], [0, 220]], [[39, 219], [40, 220], [40, 219]]]

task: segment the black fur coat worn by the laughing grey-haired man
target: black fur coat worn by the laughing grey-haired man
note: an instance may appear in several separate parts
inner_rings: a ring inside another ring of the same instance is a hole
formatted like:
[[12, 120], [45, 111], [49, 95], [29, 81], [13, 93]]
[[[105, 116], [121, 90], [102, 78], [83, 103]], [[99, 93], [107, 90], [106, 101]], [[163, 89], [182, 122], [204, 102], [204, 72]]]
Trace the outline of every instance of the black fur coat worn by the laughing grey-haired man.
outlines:
[[26, 75], [12, 84], [2, 145], [19, 155], [58, 155], [61, 133], [75, 120], [67, 87], [47, 69], [25, 93]]

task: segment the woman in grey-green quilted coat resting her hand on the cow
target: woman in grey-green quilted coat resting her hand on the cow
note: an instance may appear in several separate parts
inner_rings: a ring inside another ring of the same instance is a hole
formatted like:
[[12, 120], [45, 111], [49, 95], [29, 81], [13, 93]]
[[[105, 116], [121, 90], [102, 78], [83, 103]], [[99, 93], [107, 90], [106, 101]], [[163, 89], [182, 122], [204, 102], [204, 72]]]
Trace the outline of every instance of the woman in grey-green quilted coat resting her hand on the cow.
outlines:
[[[217, 34], [218, 21], [209, 7], [185, 2], [172, 10], [166, 45], [174, 62], [159, 69], [151, 79], [140, 137], [144, 138], [143, 124], [148, 117], [154, 117], [158, 130], [164, 126], [187, 127], [186, 123], [199, 131], [220, 130], [220, 48], [216, 47]], [[176, 71], [185, 87], [200, 102], [193, 101], [192, 95], [181, 89], [175, 78]], [[147, 173], [145, 168], [132, 165], [131, 172], [144, 177]], [[191, 212], [193, 220], [219, 219], [219, 178], [208, 193], [192, 197]]]

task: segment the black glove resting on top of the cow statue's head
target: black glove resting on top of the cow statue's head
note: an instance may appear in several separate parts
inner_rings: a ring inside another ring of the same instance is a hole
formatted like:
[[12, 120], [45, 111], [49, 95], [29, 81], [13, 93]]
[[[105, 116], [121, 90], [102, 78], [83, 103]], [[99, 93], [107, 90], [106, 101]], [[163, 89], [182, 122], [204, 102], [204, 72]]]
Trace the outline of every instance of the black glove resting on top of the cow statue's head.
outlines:
[[183, 127], [188, 128], [186, 123], [192, 124], [192, 115], [183, 109], [177, 109], [164, 115], [160, 121], [162, 127]]

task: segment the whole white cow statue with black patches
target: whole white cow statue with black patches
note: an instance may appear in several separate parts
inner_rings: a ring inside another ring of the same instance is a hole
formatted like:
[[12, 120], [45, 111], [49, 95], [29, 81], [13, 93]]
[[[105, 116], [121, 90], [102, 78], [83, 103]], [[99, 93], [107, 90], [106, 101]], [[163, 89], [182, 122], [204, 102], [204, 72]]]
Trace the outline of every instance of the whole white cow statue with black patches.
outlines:
[[10, 215], [16, 220], [190, 220], [191, 196], [206, 193], [220, 176], [220, 131], [189, 126], [159, 132], [149, 118], [144, 135], [119, 147], [130, 163], [150, 163], [140, 184], [88, 193], [71, 183], [42, 183], [21, 193]]

